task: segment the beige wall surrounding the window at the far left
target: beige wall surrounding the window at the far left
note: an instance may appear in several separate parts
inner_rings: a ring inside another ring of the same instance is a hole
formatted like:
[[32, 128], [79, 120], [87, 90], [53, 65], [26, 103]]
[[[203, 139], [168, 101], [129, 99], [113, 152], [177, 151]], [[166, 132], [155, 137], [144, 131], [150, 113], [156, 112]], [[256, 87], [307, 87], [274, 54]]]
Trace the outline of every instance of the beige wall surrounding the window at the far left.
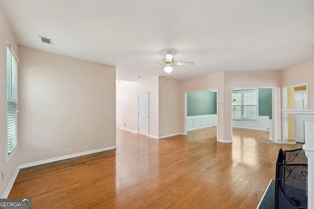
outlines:
[[8, 162], [6, 160], [6, 40], [18, 55], [17, 42], [0, 6], [0, 173], [4, 168], [7, 172], [3, 181], [0, 180], [0, 198], [4, 197], [4, 192], [19, 165], [18, 151], [11, 154]]

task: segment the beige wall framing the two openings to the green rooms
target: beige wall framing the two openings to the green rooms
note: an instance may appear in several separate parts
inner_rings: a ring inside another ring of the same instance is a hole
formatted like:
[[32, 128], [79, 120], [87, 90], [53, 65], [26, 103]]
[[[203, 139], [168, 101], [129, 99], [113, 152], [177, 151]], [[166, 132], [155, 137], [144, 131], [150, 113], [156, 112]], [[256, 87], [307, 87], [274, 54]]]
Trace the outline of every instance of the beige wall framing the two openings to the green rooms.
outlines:
[[[184, 92], [218, 88], [218, 140], [232, 140], [231, 132], [231, 88], [232, 87], [278, 87], [281, 85], [281, 71], [228, 71], [212, 73], [183, 80], [181, 98], [181, 128], [184, 130]], [[278, 93], [280, 91], [277, 90]], [[277, 94], [281, 98], [281, 94]], [[280, 111], [281, 99], [277, 99], [277, 111]], [[280, 115], [278, 115], [280, 120]], [[279, 123], [280, 124], [280, 121]], [[281, 135], [280, 135], [281, 136]], [[280, 137], [278, 136], [278, 137]]]

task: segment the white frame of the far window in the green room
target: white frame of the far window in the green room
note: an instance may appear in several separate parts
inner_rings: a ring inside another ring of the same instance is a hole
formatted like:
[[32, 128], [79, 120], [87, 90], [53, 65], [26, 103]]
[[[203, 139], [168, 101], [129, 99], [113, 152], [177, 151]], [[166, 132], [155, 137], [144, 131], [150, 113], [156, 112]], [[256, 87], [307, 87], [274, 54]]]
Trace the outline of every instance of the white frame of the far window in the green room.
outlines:
[[[256, 98], [255, 102], [256, 105], [244, 105], [244, 93], [250, 93], [250, 92], [256, 92]], [[241, 105], [234, 105], [233, 101], [233, 94], [234, 93], [241, 93]], [[242, 91], [232, 91], [231, 93], [231, 100], [232, 100], [232, 105], [231, 105], [231, 116], [233, 120], [251, 120], [251, 121], [258, 121], [259, 120], [259, 90], [258, 89], [250, 89], [250, 90], [242, 90]], [[233, 110], [234, 106], [240, 106], [240, 115], [241, 117], [234, 117]], [[244, 106], [255, 106], [256, 111], [255, 111], [255, 119], [252, 118], [244, 118]]]

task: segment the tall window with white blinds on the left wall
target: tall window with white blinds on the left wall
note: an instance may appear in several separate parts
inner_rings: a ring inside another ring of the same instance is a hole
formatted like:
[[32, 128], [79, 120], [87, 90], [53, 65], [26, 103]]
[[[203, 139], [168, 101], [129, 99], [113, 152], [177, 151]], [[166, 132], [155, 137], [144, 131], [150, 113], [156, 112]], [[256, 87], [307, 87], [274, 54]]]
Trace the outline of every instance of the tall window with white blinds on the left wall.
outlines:
[[18, 59], [9, 44], [6, 47], [7, 152], [18, 144]]

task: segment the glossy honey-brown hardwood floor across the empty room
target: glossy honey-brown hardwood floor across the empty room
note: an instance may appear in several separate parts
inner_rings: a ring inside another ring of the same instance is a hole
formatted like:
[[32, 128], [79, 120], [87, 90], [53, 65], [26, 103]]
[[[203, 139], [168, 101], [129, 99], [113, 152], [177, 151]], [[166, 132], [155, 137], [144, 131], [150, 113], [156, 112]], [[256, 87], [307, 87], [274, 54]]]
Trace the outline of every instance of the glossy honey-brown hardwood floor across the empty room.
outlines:
[[116, 150], [21, 169], [8, 198], [31, 198], [33, 209], [255, 209], [279, 148], [302, 144], [233, 135], [217, 142], [211, 127], [157, 140], [117, 129]]

